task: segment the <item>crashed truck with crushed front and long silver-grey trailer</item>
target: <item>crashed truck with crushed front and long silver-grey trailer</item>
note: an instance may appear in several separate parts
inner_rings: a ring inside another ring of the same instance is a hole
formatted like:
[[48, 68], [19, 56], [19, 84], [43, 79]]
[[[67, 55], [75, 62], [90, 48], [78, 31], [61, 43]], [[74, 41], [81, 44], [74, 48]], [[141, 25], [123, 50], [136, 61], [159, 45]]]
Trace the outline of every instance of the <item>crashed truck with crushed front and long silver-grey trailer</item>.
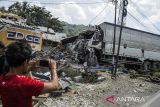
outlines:
[[[116, 25], [115, 55], [119, 34], [120, 26]], [[99, 64], [112, 66], [114, 24], [104, 22], [96, 26], [91, 35], [78, 38], [74, 44], [81, 43], [82, 48], [74, 46], [75, 50], [80, 50], [81, 56], [85, 57], [86, 50], [93, 48]], [[118, 66], [130, 69], [160, 69], [160, 35], [123, 27], [118, 59]]]

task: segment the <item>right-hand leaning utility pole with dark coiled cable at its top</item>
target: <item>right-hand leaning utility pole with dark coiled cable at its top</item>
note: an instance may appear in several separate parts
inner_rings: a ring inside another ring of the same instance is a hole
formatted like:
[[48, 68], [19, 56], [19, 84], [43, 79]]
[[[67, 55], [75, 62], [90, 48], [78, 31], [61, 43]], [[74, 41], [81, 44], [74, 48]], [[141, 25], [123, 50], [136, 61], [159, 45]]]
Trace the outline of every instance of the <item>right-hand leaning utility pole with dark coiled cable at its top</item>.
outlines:
[[[122, 6], [122, 17], [121, 17], [121, 26], [120, 26], [120, 35], [119, 35], [119, 41], [118, 41], [118, 50], [117, 50], [117, 56], [116, 56], [116, 63], [115, 63], [115, 69], [113, 76], [116, 78], [116, 72], [117, 72], [117, 67], [118, 67], [118, 60], [119, 60], [119, 51], [120, 51], [120, 46], [121, 46], [121, 36], [122, 36], [122, 27], [123, 27], [123, 19], [124, 17], [127, 16], [127, 7], [128, 5], [128, 0], [123, 0], [123, 6]], [[121, 8], [120, 8], [121, 9]]]

